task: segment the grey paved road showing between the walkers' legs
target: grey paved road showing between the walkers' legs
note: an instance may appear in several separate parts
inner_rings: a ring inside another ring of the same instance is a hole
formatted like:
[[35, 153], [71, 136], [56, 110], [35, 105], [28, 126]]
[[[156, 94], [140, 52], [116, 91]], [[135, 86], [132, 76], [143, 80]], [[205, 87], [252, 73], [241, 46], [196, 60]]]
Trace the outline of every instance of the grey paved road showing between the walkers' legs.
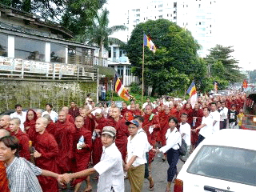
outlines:
[[[178, 161], [178, 171], [182, 169], [182, 165], [184, 163], [181, 161]], [[152, 162], [152, 174], [154, 178], [154, 192], [165, 192], [166, 191], [166, 183], [167, 183], [167, 169], [168, 169], [168, 163], [167, 162], [162, 162], [161, 157], [155, 157], [154, 162]], [[94, 175], [91, 177], [91, 184], [93, 186], [93, 192], [97, 191], [97, 181], [94, 179]], [[150, 182], [145, 179], [144, 185], [143, 185], [143, 192], [149, 192], [149, 186]], [[173, 184], [172, 184], [173, 186]], [[126, 192], [130, 192], [130, 183], [129, 180], [125, 180], [125, 187], [126, 187]], [[83, 183], [82, 188], [86, 188], [86, 183]], [[69, 191], [69, 190], [64, 190], [64, 191]], [[74, 190], [70, 190], [74, 191]]]

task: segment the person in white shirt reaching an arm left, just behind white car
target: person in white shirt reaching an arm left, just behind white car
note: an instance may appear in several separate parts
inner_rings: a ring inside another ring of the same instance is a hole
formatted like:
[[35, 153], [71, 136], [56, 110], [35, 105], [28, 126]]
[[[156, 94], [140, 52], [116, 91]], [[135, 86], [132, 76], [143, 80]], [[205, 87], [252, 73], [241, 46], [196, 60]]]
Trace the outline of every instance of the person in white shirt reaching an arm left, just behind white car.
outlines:
[[214, 126], [213, 126], [214, 119], [210, 116], [210, 110], [208, 107], [205, 107], [203, 109], [203, 117], [202, 117], [202, 123], [201, 126], [198, 126], [198, 128], [192, 130], [193, 132], [199, 131], [198, 136], [198, 143], [197, 146], [202, 142], [205, 138], [209, 137], [214, 132]]

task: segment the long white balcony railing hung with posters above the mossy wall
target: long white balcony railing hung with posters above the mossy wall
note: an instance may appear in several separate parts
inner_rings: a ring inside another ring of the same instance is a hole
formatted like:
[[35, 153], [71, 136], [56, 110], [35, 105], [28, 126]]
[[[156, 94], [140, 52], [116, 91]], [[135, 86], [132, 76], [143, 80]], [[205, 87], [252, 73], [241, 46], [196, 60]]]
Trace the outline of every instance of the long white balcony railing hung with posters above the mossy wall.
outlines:
[[38, 62], [0, 56], [0, 78], [91, 82], [97, 80], [97, 69], [93, 66]]

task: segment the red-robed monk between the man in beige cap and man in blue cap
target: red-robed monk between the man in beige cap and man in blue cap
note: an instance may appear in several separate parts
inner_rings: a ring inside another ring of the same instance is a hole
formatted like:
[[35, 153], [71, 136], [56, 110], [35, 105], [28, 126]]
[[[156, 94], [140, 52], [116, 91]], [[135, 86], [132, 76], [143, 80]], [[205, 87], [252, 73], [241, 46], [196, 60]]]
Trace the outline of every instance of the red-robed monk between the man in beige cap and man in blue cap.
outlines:
[[127, 139], [129, 136], [126, 120], [120, 117], [121, 111], [118, 107], [113, 108], [112, 119], [109, 119], [108, 126], [113, 126], [117, 130], [115, 145], [122, 154], [122, 160], [126, 162]]

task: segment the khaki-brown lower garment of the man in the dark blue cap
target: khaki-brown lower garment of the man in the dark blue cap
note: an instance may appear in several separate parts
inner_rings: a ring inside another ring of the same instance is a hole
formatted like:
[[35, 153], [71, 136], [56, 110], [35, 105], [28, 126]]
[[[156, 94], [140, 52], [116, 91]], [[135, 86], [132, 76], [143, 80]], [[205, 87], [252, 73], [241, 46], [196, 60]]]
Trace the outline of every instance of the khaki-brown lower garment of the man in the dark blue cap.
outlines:
[[140, 166], [130, 166], [128, 170], [128, 178], [130, 182], [131, 192], [142, 191], [145, 175], [145, 164]]

